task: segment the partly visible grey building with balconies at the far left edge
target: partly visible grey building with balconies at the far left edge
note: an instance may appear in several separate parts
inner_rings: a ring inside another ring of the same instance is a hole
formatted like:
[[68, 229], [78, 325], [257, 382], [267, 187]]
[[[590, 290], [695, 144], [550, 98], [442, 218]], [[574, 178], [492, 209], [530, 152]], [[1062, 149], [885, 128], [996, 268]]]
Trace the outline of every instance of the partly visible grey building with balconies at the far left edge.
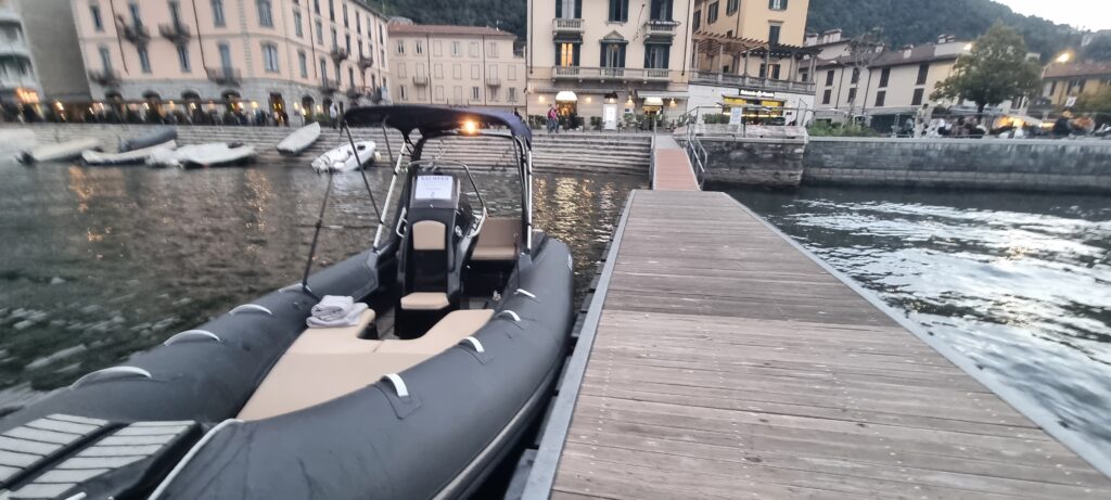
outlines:
[[11, 118], [88, 102], [69, 0], [0, 0], [0, 103]]

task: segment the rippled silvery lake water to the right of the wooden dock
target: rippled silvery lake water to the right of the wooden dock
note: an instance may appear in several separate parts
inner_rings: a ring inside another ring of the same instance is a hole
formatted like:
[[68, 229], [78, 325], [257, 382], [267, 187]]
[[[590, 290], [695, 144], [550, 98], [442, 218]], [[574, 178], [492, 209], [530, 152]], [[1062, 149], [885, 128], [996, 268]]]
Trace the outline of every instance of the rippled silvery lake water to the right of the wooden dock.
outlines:
[[1111, 197], [732, 194], [1111, 457]]

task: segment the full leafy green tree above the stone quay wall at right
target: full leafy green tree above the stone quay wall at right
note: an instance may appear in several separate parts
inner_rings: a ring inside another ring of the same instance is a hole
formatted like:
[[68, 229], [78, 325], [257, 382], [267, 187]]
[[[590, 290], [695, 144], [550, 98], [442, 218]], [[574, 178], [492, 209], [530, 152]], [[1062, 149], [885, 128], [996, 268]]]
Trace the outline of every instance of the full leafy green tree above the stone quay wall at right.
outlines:
[[1022, 36], [997, 22], [972, 43], [970, 53], [957, 59], [952, 76], [938, 83], [930, 98], [972, 101], [983, 113], [988, 106], [1035, 93], [1040, 73], [1041, 67], [1027, 59]]

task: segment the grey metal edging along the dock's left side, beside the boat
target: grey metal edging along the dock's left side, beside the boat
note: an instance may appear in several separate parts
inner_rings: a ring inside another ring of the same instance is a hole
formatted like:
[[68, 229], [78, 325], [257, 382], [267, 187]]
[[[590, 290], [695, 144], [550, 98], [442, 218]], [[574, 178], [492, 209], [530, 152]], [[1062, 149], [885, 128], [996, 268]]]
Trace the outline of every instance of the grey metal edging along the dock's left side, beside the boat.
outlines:
[[559, 394], [556, 397], [551, 414], [548, 417], [548, 426], [543, 429], [540, 449], [537, 450], [532, 470], [529, 471], [529, 479], [526, 482], [524, 492], [521, 494], [522, 500], [546, 500], [551, 496], [552, 484], [556, 482], [556, 470], [559, 467], [560, 457], [563, 454], [567, 432], [571, 428], [571, 416], [574, 413], [574, 404], [582, 388], [582, 377], [587, 372], [587, 362], [590, 361], [590, 352], [594, 347], [598, 323], [602, 318], [602, 306], [605, 303], [610, 279], [613, 277], [613, 268], [618, 261], [618, 251], [621, 249], [621, 239], [624, 236], [625, 223], [629, 221], [629, 213], [632, 211], [632, 202], [635, 198], [637, 191], [629, 193], [624, 211], [621, 212], [621, 221], [618, 223], [617, 230], [613, 231], [613, 241], [610, 243], [609, 253], [605, 254], [602, 274], [598, 278], [598, 286], [590, 300], [590, 308], [587, 310], [582, 329], [579, 331], [579, 341], [567, 363], [563, 382], [559, 386]]

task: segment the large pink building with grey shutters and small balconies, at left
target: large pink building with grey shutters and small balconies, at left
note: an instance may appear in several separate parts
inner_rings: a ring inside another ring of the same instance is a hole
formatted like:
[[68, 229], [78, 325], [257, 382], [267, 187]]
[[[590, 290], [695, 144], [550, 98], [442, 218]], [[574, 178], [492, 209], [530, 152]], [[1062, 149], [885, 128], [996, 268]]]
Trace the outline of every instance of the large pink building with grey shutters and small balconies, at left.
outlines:
[[361, 0], [72, 6], [96, 100], [141, 102], [159, 113], [181, 106], [281, 118], [389, 99], [387, 22]]

